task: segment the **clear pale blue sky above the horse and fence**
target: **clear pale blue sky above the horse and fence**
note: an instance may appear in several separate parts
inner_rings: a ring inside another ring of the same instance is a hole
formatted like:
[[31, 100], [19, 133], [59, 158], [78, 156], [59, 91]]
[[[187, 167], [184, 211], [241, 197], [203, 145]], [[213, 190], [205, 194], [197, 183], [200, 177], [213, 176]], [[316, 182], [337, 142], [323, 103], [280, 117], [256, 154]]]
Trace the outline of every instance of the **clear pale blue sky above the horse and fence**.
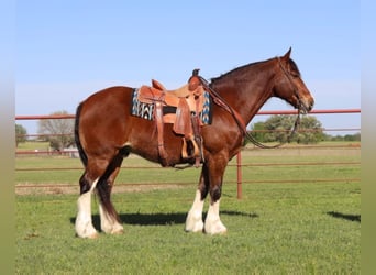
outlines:
[[[290, 46], [316, 109], [361, 108], [360, 1], [23, 0], [15, 16], [15, 114], [74, 113], [108, 86], [174, 88], [193, 68], [211, 78]], [[288, 109], [279, 99], [263, 108]], [[317, 117], [361, 127], [358, 114]]]

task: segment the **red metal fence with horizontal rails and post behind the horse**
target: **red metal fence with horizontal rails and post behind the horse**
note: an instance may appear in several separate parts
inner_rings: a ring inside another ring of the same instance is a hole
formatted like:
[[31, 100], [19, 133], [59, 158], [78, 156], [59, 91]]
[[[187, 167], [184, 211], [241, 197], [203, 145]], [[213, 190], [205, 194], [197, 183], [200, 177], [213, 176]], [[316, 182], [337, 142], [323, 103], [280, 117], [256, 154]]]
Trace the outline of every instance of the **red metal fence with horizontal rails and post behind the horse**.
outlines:
[[[361, 109], [335, 109], [335, 110], [313, 110], [311, 111], [309, 114], [343, 114], [343, 113], [361, 113]], [[273, 114], [297, 114], [296, 110], [291, 110], [291, 111], [259, 111], [257, 113], [257, 116], [273, 116]], [[54, 116], [15, 116], [15, 120], [48, 120], [48, 119], [75, 119], [75, 114], [54, 114]], [[264, 130], [258, 130], [261, 132], [263, 132]], [[285, 131], [285, 130], [283, 130]], [[338, 128], [338, 129], [318, 129], [318, 130], [305, 130], [305, 129], [300, 129], [299, 131], [303, 132], [303, 131], [328, 131], [328, 132], [341, 132], [341, 131], [346, 131], [346, 132], [361, 132], [361, 128]], [[256, 131], [255, 131], [256, 132]], [[59, 136], [59, 135], [73, 135], [73, 133], [68, 133], [68, 134], [54, 134], [54, 135], [49, 135], [49, 134], [25, 134], [23, 136], [29, 136], [29, 138], [43, 138], [43, 136]], [[278, 150], [286, 150], [286, 151], [291, 151], [291, 150], [319, 150], [319, 148], [323, 148], [323, 150], [360, 150], [360, 143], [358, 145], [289, 145], [286, 147], [279, 147]], [[244, 151], [258, 151], [261, 148], [244, 148]], [[76, 148], [67, 148], [64, 151], [51, 151], [51, 150], [37, 150], [37, 151], [16, 151], [15, 152], [15, 156], [71, 156], [71, 157], [78, 157], [77, 154], [77, 150]], [[349, 162], [349, 161], [327, 161], [327, 162], [286, 162], [286, 163], [243, 163], [242, 162], [242, 153], [237, 154], [236, 156], [236, 162], [234, 163], [230, 163], [229, 167], [235, 167], [236, 169], [236, 179], [233, 180], [233, 183], [237, 184], [237, 198], [242, 198], [242, 184], [258, 184], [258, 183], [328, 183], [328, 182], [332, 182], [332, 183], [343, 183], [345, 182], [360, 182], [358, 177], [355, 178], [307, 178], [307, 179], [252, 179], [252, 180], [244, 180], [242, 178], [242, 169], [244, 168], [248, 168], [248, 167], [309, 167], [309, 166], [360, 166], [361, 162], [356, 161], [356, 162]], [[137, 166], [137, 165], [133, 165], [133, 166], [128, 166], [124, 165], [122, 166], [122, 169], [161, 169], [162, 167], [159, 166]], [[56, 172], [62, 172], [62, 170], [82, 170], [82, 166], [77, 166], [77, 167], [16, 167], [15, 172], [16, 173], [27, 173], [27, 172], [40, 172], [40, 170], [56, 170]], [[77, 179], [78, 180], [78, 179]], [[161, 185], [161, 186], [166, 186], [166, 185], [188, 185], [191, 183], [174, 183], [174, 184], [168, 184], [168, 183], [161, 183], [161, 184], [150, 184], [150, 183], [137, 183], [137, 184], [117, 184], [117, 186], [143, 186], [143, 185]], [[51, 187], [70, 187], [71, 188], [73, 185], [69, 184], [35, 184], [35, 185], [30, 185], [30, 184], [18, 184], [15, 187], [16, 188], [51, 188]]]

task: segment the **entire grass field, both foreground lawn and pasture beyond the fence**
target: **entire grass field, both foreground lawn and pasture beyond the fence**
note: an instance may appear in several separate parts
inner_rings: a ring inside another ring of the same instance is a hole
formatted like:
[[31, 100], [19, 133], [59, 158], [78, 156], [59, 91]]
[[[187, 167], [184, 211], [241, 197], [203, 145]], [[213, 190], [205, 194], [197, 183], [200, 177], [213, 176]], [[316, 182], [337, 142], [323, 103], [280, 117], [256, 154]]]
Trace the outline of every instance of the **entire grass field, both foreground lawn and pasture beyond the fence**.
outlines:
[[[16, 195], [18, 274], [360, 274], [360, 150], [294, 148], [243, 153], [243, 163], [301, 163], [243, 168], [236, 199], [235, 167], [226, 170], [221, 218], [228, 234], [186, 233], [199, 170], [123, 169], [121, 185], [187, 183], [172, 188], [114, 193], [125, 233], [75, 237], [77, 195]], [[126, 165], [150, 165], [137, 157]], [[42, 166], [41, 166], [42, 165]], [[79, 160], [19, 157], [16, 168], [80, 167]], [[77, 186], [80, 169], [18, 170], [18, 185]], [[325, 178], [328, 182], [316, 180]], [[286, 180], [274, 183], [274, 180]], [[331, 182], [331, 179], [335, 179]], [[336, 180], [343, 179], [343, 180]], [[263, 183], [257, 183], [263, 180]], [[300, 182], [299, 182], [300, 180]], [[289, 183], [291, 182], [291, 183]], [[78, 188], [77, 188], [78, 190]], [[95, 200], [96, 201], [96, 200]], [[208, 205], [208, 202], [207, 202]], [[206, 205], [206, 207], [207, 207]], [[98, 206], [93, 221], [98, 228]]]

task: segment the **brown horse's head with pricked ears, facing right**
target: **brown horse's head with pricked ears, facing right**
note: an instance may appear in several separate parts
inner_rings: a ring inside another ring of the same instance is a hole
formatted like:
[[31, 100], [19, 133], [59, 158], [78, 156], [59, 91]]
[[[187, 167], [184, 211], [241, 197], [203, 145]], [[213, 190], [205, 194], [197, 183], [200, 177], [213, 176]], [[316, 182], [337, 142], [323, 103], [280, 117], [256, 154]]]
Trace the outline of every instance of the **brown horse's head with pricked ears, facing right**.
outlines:
[[298, 66], [290, 59], [290, 53], [291, 48], [283, 57], [277, 57], [278, 73], [273, 92], [274, 96], [307, 113], [312, 110], [314, 100], [301, 79]]

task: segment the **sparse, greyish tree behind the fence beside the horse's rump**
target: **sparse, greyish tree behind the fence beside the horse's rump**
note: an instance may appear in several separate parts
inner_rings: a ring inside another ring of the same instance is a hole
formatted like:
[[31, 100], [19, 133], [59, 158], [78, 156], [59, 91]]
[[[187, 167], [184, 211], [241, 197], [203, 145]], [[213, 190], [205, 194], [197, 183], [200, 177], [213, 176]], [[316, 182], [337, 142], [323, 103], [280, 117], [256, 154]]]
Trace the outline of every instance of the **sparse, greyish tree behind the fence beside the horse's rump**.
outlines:
[[[51, 113], [68, 114], [67, 111], [57, 111]], [[49, 141], [49, 146], [54, 150], [63, 150], [74, 144], [74, 119], [46, 119], [38, 121], [38, 134], [43, 135], [43, 139]]]

